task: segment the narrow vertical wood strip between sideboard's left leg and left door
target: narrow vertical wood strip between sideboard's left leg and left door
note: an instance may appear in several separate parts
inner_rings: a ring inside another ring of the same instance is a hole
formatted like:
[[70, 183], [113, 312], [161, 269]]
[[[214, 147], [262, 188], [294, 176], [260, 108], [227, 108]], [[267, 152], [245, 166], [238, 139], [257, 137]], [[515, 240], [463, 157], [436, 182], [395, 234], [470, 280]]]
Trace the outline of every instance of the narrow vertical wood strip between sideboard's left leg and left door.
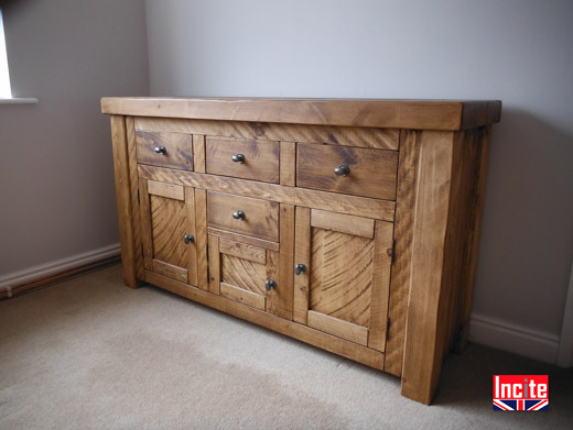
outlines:
[[126, 118], [126, 134], [128, 143], [129, 183], [131, 194], [131, 213], [133, 216], [133, 253], [136, 257], [136, 276], [143, 280], [145, 276], [143, 267], [143, 247], [141, 242], [141, 214], [138, 198], [138, 155], [136, 143], [136, 124], [133, 117]]

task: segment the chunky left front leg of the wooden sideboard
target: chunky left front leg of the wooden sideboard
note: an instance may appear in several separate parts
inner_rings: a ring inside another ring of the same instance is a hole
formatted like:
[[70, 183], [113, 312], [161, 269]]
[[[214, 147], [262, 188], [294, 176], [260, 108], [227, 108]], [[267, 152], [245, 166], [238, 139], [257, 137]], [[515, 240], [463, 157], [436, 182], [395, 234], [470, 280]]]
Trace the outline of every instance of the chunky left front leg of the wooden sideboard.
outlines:
[[128, 287], [136, 288], [138, 284], [125, 117], [111, 115], [111, 139], [113, 144], [113, 170], [116, 175], [116, 199], [123, 283]]

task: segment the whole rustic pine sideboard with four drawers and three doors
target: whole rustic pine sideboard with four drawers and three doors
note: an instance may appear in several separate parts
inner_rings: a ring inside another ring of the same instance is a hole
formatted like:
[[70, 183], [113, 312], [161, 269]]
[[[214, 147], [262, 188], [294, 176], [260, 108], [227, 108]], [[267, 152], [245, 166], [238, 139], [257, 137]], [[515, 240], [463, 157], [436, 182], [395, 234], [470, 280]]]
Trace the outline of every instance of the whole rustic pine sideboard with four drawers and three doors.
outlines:
[[401, 376], [467, 341], [501, 102], [104, 98], [126, 285]]

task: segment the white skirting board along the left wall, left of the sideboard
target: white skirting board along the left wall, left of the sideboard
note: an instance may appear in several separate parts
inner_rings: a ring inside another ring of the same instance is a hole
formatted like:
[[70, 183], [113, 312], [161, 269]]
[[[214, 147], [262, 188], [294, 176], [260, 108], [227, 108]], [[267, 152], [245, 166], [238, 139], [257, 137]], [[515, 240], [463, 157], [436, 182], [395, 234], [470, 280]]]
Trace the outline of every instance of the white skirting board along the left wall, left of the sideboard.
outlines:
[[0, 290], [8, 290], [8, 296], [10, 297], [12, 286], [30, 283], [45, 276], [85, 266], [87, 264], [91, 264], [100, 260], [110, 258], [112, 256], [119, 255], [119, 243], [115, 243], [109, 246], [98, 247], [96, 250], [83, 252], [80, 254], [76, 254], [66, 258], [56, 260], [50, 263], [1, 275]]

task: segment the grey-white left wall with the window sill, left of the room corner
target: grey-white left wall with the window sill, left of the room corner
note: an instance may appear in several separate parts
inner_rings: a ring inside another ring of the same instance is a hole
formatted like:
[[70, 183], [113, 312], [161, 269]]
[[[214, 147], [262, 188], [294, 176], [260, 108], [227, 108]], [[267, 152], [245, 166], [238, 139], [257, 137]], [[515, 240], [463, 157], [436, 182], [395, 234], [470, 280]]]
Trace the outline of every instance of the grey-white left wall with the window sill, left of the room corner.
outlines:
[[0, 275], [118, 242], [104, 96], [149, 95], [142, 0], [2, 2]]

